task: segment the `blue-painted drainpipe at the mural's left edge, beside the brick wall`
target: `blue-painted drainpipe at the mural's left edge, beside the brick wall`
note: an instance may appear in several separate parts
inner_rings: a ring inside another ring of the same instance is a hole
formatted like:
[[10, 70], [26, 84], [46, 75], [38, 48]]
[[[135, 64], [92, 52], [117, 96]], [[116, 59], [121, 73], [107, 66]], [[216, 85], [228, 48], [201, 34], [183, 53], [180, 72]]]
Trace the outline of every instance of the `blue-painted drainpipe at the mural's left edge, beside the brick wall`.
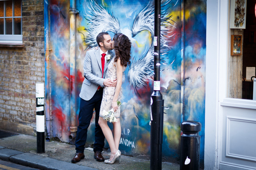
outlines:
[[44, 0], [44, 49], [45, 49], [45, 113], [46, 113], [46, 141], [50, 141], [50, 64], [49, 64], [49, 13], [48, 13], [48, 0]]

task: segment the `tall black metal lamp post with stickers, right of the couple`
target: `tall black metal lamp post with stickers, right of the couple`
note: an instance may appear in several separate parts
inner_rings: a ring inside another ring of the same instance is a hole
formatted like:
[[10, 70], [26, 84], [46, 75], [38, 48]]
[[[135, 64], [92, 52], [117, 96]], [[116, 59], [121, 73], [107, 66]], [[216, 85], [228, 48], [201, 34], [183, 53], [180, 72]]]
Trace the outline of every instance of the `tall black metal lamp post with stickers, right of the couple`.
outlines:
[[160, 93], [161, 0], [155, 0], [154, 13], [154, 92], [151, 95], [150, 170], [162, 169], [163, 96]]

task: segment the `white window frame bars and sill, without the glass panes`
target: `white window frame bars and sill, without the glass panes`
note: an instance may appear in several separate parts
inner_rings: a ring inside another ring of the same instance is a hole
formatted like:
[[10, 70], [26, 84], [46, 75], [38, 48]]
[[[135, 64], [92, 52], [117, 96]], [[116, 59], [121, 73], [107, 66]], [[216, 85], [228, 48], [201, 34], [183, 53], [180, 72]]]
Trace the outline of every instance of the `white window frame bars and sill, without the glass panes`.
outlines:
[[[6, 2], [9, 0], [0, 0], [0, 1], [4, 1], [4, 16], [0, 17], [0, 19], [4, 19], [4, 34], [0, 34], [0, 44], [22, 44], [22, 1], [21, 1], [21, 14], [20, 16], [16, 17], [14, 16], [14, 0], [10, 0], [12, 1], [12, 16], [11, 17], [6, 17]], [[6, 18], [11, 18], [12, 19], [12, 34], [6, 34]], [[15, 18], [20, 18], [21, 19], [21, 34], [17, 35], [14, 34], [14, 19]]]

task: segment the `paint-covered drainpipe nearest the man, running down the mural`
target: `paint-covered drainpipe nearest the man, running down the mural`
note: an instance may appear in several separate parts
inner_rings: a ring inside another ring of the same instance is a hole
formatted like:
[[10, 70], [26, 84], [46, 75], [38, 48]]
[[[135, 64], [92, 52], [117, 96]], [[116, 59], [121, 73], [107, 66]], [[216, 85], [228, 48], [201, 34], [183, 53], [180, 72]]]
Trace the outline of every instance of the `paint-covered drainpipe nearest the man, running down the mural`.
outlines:
[[76, 0], [70, 0], [69, 21], [70, 21], [70, 135], [69, 140], [76, 138]]

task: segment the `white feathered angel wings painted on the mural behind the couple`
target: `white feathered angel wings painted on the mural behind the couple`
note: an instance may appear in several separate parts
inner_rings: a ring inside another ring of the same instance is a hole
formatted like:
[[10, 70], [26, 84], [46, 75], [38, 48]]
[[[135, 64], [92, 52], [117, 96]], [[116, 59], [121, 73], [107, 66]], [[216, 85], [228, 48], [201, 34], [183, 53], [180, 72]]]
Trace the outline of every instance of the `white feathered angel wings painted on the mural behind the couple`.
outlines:
[[[177, 0], [176, 0], [177, 1]], [[162, 7], [167, 5], [171, 0], [162, 0]], [[128, 36], [132, 43], [137, 42], [137, 35], [142, 32], [149, 32], [150, 42], [149, 46], [145, 48], [143, 55], [140, 57], [133, 57], [133, 61], [129, 65], [128, 81], [130, 87], [137, 92], [138, 89], [145, 87], [148, 79], [154, 74], [154, 4], [149, 2], [145, 8], [135, 14], [132, 27], [120, 27], [118, 17], [107, 11], [102, 5], [95, 0], [88, 0], [85, 2], [87, 10], [85, 10], [84, 18], [87, 20], [87, 27], [85, 28], [87, 34], [85, 35], [85, 44], [87, 49], [97, 46], [96, 36], [100, 32], [112, 32], [113, 34], [122, 33]], [[167, 10], [161, 11], [161, 63], [165, 64], [165, 52], [171, 47], [169, 46], [170, 35], [168, 26], [171, 24], [172, 15], [167, 13]], [[137, 59], [135, 59], [137, 58]]]

